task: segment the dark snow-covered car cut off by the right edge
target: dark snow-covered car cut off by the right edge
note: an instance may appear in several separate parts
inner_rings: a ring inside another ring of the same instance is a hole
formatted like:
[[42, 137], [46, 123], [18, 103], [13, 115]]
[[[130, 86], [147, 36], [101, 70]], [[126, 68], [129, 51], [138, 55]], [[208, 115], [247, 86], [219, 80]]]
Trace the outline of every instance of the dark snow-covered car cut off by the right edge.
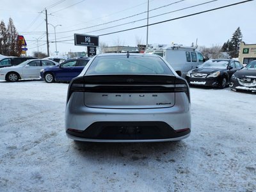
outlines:
[[256, 92], [256, 60], [250, 62], [242, 70], [234, 73], [229, 84], [231, 90]]

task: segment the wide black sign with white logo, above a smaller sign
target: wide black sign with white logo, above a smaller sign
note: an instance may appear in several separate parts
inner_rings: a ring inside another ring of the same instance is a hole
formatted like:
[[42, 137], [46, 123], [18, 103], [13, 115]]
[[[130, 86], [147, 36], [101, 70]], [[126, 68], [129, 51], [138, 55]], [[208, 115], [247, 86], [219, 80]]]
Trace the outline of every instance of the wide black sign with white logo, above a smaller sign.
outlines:
[[74, 34], [75, 45], [99, 47], [99, 36]]

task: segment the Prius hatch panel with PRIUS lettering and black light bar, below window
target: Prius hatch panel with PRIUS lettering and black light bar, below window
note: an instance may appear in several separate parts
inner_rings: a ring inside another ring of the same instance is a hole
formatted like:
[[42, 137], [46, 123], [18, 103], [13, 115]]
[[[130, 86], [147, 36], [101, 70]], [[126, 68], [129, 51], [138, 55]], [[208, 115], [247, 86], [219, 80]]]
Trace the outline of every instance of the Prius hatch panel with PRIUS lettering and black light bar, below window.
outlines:
[[81, 80], [72, 82], [70, 92], [84, 92], [84, 105], [89, 108], [171, 108], [175, 92], [186, 92], [189, 97], [186, 81], [175, 76], [92, 75]]

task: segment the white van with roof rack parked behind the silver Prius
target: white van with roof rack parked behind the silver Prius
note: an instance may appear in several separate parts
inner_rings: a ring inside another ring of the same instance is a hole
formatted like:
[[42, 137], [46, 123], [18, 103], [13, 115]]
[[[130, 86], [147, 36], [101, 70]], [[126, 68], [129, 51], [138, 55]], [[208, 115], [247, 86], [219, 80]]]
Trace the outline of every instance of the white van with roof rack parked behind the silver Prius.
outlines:
[[182, 45], [152, 45], [146, 50], [149, 54], [157, 54], [163, 57], [177, 74], [186, 77], [189, 70], [204, 63], [205, 58], [196, 47], [184, 47]]

